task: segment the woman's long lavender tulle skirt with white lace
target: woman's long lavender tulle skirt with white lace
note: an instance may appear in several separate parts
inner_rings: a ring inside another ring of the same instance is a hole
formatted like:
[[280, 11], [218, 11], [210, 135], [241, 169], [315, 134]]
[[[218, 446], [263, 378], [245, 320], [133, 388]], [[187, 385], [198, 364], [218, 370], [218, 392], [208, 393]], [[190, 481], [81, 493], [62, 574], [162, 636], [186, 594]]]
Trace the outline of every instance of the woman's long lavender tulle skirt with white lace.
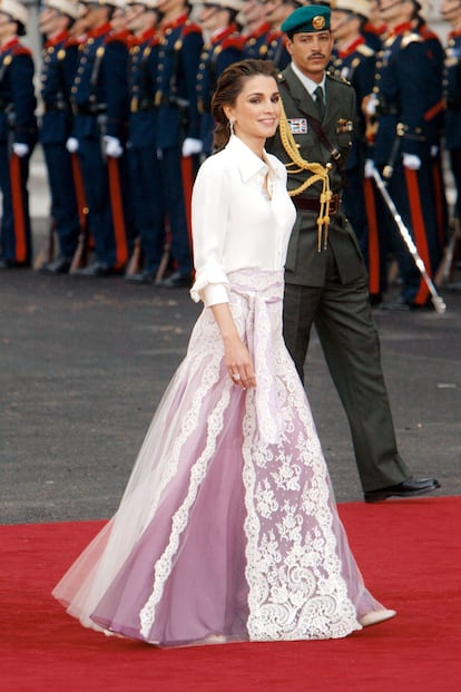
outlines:
[[233, 384], [205, 309], [116, 515], [53, 595], [86, 626], [161, 646], [342, 637], [383, 606], [349, 547], [283, 342], [283, 273], [228, 279], [257, 387]]

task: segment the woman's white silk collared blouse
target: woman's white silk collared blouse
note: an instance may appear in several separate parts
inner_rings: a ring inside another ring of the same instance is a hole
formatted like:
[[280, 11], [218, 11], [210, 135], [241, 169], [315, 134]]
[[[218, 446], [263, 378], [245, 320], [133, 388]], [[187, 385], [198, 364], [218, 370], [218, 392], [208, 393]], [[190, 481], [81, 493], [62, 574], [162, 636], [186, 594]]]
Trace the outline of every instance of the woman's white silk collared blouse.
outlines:
[[266, 152], [261, 159], [233, 135], [202, 164], [194, 184], [193, 300], [227, 303], [229, 272], [282, 270], [295, 217], [282, 162]]

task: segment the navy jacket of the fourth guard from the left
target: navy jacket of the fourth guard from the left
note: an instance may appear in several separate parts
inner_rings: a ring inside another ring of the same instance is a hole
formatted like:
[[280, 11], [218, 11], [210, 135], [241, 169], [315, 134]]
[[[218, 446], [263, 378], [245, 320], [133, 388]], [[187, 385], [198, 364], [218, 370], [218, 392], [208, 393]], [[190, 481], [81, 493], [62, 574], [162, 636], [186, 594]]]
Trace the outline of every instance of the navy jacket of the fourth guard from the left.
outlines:
[[129, 143], [136, 148], [155, 146], [157, 109], [154, 105], [159, 39], [151, 28], [131, 40], [128, 64]]

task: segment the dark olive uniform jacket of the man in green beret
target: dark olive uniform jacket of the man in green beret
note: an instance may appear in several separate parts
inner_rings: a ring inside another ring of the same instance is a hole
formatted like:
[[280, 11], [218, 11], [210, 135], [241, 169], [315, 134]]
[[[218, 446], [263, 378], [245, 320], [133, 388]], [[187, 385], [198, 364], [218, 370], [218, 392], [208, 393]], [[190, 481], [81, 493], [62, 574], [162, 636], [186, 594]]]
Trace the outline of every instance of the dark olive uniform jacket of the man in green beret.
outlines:
[[[322, 144], [318, 135], [310, 126], [306, 115], [317, 117], [316, 105], [296, 75], [288, 66], [281, 76], [279, 92], [282, 95], [286, 117], [302, 157], [308, 162], [323, 165], [331, 164], [331, 153]], [[285, 86], [286, 85], [286, 86]], [[288, 87], [288, 88], [286, 88]], [[326, 77], [326, 111], [323, 129], [333, 147], [336, 147], [344, 159], [351, 148], [352, 131], [355, 120], [355, 92], [345, 81]], [[279, 133], [267, 143], [267, 149], [290, 163]], [[288, 173], [288, 192], [298, 187], [311, 175], [301, 172]], [[333, 164], [330, 173], [331, 189], [341, 194], [343, 175], [340, 167]], [[315, 184], [302, 193], [302, 197], [318, 199], [321, 185]], [[295, 198], [294, 198], [295, 199]], [[286, 260], [286, 281], [302, 285], [321, 286], [324, 284], [326, 271], [325, 251], [317, 252], [317, 213], [298, 211], [293, 227]], [[340, 212], [331, 217], [328, 244], [336, 260], [340, 279], [343, 283], [365, 276], [365, 265], [355, 238], [355, 234], [344, 214]]]

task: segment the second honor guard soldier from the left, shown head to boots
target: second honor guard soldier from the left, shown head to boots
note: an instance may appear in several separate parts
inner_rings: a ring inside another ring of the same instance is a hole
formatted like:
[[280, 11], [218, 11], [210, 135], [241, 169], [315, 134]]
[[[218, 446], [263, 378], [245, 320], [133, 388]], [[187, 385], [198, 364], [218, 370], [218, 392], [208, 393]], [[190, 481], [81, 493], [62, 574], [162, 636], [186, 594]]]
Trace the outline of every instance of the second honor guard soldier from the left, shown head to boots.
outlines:
[[51, 216], [59, 242], [57, 259], [40, 267], [49, 274], [66, 273], [77, 250], [80, 221], [72, 173], [72, 160], [66, 148], [70, 136], [70, 89], [78, 59], [78, 45], [69, 29], [78, 17], [73, 0], [45, 0], [39, 29], [46, 37], [40, 77], [43, 105], [39, 138], [47, 164], [51, 195]]

